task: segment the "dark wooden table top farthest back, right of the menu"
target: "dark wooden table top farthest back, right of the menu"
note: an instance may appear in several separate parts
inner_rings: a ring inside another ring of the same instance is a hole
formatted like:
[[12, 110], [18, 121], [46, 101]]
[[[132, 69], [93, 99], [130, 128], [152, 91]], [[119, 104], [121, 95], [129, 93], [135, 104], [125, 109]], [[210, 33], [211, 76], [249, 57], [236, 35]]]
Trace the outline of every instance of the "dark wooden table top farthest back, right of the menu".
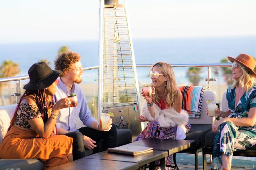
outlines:
[[194, 140], [170, 140], [170, 139], [152, 139], [146, 138], [138, 140], [126, 145], [146, 146], [152, 147], [153, 150], [168, 151], [169, 155], [183, 151], [193, 145], [196, 142]]

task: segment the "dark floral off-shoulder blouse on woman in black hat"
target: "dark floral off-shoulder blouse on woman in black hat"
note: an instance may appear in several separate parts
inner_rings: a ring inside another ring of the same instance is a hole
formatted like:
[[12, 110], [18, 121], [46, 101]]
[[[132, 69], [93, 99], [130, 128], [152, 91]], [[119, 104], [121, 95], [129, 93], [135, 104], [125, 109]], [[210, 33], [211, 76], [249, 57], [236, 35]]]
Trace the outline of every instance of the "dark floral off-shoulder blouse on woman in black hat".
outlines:
[[22, 128], [32, 129], [28, 123], [28, 120], [37, 119], [39, 117], [42, 117], [42, 114], [36, 105], [20, 103], [14, 124]]

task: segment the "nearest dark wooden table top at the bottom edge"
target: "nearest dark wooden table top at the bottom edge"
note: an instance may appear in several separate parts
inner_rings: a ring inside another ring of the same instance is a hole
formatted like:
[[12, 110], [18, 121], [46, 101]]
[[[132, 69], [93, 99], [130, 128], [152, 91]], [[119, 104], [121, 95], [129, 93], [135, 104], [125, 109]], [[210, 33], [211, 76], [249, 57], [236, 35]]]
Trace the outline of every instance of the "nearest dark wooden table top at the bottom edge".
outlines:
[[62, 164], [51, 168], [51, 170], [76, 170], [76, 169], [120, 169], [120, 170], [135, 170], [138, 169], [139, 165], [135, 162], [121, 162], [121, 161], [111, 161], [111, 160], [101, 160], [101, 159], [88, 159], [82, 158]]

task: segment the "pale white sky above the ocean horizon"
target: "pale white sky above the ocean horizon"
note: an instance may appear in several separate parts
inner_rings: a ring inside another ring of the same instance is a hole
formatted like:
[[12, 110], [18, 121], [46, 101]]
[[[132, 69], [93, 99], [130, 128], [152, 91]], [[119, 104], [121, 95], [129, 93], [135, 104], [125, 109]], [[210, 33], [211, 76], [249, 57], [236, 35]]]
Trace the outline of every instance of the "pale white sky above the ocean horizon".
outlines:
[[[255, 0], [126, 0], [133, 39], [256, 35]], [[119, 0], [123, 3], [123, 0]], [[97, 40], [99, 0], [0, 0], [0, 43]]]

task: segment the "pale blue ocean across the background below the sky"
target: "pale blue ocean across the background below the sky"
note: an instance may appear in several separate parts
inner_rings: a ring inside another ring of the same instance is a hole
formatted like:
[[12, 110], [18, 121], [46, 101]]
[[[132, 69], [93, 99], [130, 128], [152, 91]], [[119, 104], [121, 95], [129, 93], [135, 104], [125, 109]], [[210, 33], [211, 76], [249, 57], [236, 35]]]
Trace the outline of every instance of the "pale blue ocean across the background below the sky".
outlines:
[[[49, 60], [54, 68], [61, 46], [79, 53], [84, 67], [98, 65], [98, 40], [0, 44], [0, 63], [17, 62], [21, 69], [19, 75], [27, 75], [29, 67], [41, 59]], [[256, 36], [133, 39], [133, 47], [136, 64], [220, 63], [223, 58], [240, 53], [255, 57]]]

